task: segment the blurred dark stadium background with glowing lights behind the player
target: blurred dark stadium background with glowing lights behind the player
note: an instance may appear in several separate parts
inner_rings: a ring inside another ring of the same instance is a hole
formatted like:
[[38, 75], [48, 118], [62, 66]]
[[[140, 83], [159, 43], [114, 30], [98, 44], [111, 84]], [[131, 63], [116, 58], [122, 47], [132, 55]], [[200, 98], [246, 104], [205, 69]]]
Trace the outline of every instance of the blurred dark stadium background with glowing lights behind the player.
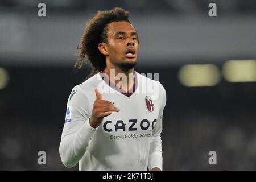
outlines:
[[[39, 2], [46, 17], [38, 17]], [[89, 73], [72, 69], [76, 46], [85, 22], [115, 6], [130, 11], [138, 30], [137, 71], [159, 73], [166, 88], [164, 170], [255, 170], [254, 0], [1, 0], [0, 169], [78, 169], [59, 156], [69, 93]]]

